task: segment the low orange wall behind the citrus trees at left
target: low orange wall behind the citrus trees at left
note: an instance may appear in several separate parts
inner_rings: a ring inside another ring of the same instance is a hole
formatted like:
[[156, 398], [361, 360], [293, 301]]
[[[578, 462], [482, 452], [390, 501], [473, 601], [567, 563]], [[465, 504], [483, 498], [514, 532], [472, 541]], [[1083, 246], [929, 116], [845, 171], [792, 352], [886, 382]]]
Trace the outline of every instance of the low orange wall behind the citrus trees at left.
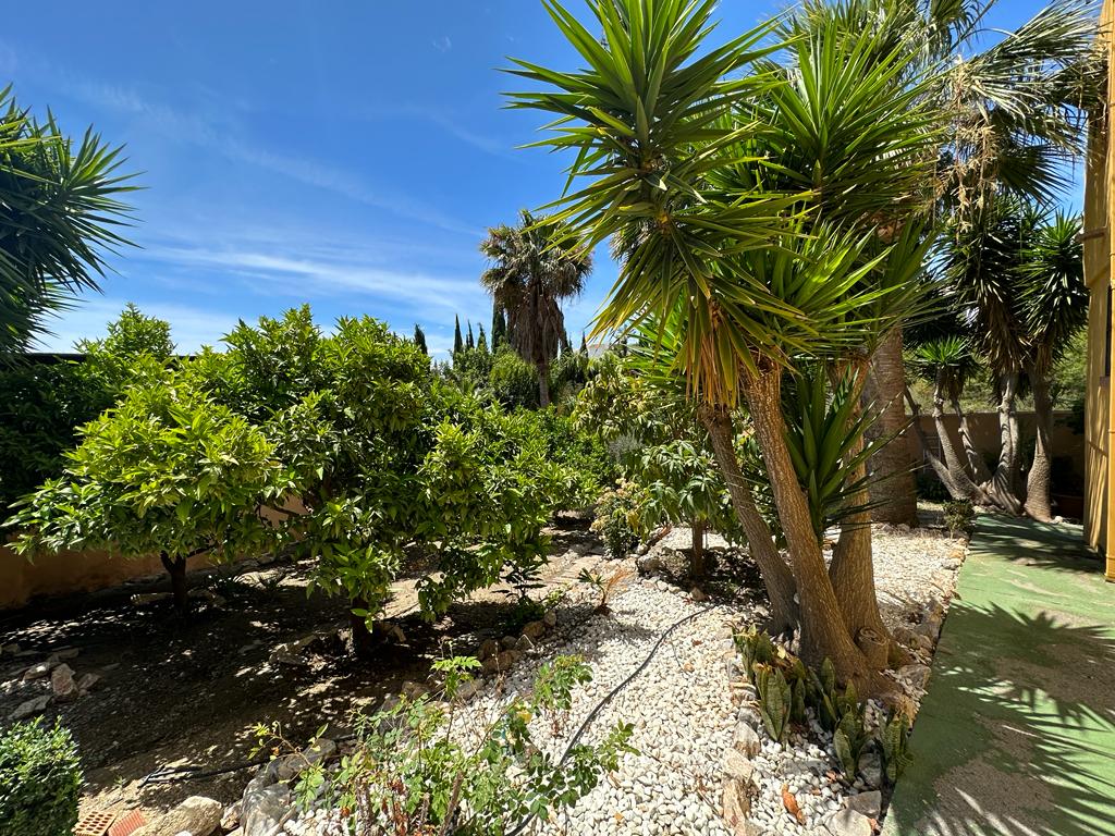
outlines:
[[[190, 568], [210, 565], [205, 556]], [[0, 610], [22, 606], [36, 595], [93, 592], [137, 577], [165, 575], [157, 556], [125, 560], [108, 552], [60, 552], [28, 561], [0, 546]]]

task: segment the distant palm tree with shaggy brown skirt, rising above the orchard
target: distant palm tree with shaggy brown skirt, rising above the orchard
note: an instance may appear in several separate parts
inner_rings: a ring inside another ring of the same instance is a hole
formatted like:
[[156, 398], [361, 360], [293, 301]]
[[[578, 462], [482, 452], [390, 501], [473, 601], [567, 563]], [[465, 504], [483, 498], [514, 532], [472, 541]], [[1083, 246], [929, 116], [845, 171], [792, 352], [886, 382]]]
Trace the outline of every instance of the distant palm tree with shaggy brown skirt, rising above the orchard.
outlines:
[[481, 244], [489, 266], [481, 284], [506, 313], [507, 341], [539, 370], [539, 405], [550, 405], [550, 362], [565, 339], [561, 302], [580, 295], [592, 253], [562, 223], [520, 213], [517, 226], [495, 226]]

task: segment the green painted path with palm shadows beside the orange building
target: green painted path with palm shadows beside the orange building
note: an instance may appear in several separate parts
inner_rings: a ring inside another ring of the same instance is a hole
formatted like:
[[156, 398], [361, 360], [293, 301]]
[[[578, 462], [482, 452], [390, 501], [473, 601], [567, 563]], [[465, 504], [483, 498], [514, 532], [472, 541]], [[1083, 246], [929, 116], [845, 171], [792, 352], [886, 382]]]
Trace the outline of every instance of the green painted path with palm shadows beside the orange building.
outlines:
[[1115, 584], [1080, 536], [979, 518], [884, 836], [1115, 836]]

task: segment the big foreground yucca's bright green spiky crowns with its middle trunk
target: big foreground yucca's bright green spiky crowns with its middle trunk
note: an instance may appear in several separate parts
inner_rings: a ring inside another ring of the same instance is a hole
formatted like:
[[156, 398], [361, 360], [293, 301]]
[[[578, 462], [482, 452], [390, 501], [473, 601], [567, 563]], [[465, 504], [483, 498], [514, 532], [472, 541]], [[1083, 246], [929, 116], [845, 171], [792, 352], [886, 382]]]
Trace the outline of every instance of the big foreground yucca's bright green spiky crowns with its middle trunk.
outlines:
[[[883, 327], [875, 305], [895, 289], [881, 288], [876, 276], [889, 251], [875, 252], [875, 231], [836, 221], [898, 208], [902, 201], [879, 189], [899, 182], [906, 193], [901, 174], [927, 158], [910, 137], [928, 142], [932, 118], [915, 93], [906, 96], [894, 82], [899, 74], [842, 72], [869, 42], [828, 49], [812, 41], [789, 66], [776, 67], [778, 46], [759, 46], [767, 26], [705, 48], [711, 0], [592, 0], [602, 40], [553, 0], [544, 4], [588, 68], [562, 72], [521, 61], [514, 71], [543, 89], [512, 95], [518, 106], [558, 117], [554, 135], [540, 144], [575, 150], [570, 181], [590, 181], [559, 202], [558, 216], [591, 241], [623, 241], [598, 330], [623, 332], [656, 312], [672, 315], [672, 363], [700, 411], [720, 418], [746, 404], [791, 554], [803, 652], [831, 658], [842, 678], [871, 684], [794, 469], [780, 390], [799, 358], [854, 353]], [[860, 95], [862, 86], [874, 95]], [[842, 100], [855, 105], [845, 109]], [[808, 174], [794, 182], [782, 159], [796, 147], [788, 137], [802, 113], [809, 118], [802, 129], [815, 128], [821, 150], [812, 168], [801, 163]], [[828, 146], [825, 132], [836, 125], [850, 134], [857, 126], [862, 143]], [[821, 166], [818, 182], [822, 155], [844, 156]], [[879, 177], [880, 166], [891, 166], [893, 178]], [[730, 485], [731, 457], [716, 444], [725, 427], [707, 425]], [[745, 511], [737, 505], [741, 521]], [[762, 544], [747, 533], [758, 558]], [[780, 572], [762, 562], [760, 570], [770, 590]], [[772, 601], [777, 606], [776, 595]]]

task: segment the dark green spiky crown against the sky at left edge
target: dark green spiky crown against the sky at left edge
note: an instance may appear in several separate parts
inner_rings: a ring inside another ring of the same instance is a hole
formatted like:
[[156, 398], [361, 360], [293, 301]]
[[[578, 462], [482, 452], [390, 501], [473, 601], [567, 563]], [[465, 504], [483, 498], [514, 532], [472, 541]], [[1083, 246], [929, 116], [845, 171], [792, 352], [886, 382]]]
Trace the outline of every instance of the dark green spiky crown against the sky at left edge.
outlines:
[[87, 130], [65, 136], [54, 118], [32, 119], [0, 90], [0, 357], [26, 348], [45, 318], [81, 290], [96, 290], [104, 252], [128, 242], [116, 231], [133, 191], [120, 148]]

